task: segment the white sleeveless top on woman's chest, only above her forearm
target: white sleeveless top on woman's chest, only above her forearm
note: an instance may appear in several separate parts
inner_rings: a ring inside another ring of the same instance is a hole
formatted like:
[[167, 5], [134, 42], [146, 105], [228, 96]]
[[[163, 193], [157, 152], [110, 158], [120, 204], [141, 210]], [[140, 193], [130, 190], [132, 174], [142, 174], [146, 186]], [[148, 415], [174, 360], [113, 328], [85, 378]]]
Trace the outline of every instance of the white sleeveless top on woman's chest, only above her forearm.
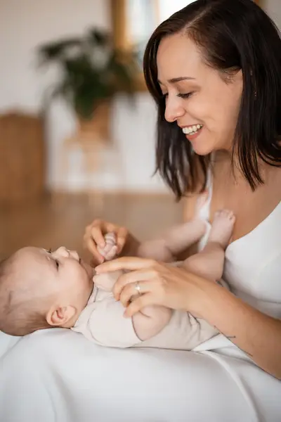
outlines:
[[[211, 170], [207, 175], [207, 190], [207, 201], [198, 210], [208, 227], [199, 250], [207, 242], [211, 229]], [[228, 245], [223, 280], [237, 297], [264, 314], [281, 319], [281, 201], [249, 234]], [[209, 350], [209, 344], [196, 350]]]

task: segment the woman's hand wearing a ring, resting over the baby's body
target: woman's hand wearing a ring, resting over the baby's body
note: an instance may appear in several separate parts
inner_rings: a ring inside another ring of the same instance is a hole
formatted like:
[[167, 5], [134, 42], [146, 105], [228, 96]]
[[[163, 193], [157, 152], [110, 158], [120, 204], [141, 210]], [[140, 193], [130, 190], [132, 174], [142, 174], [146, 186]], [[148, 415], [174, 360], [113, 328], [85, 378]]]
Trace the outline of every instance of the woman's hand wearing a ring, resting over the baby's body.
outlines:
[[[133, 316], [148, 305], [162, 305], [198, 315], [197, 302], [202, 291], [200, 277], [183, 268], [138, 257], [118, 258], [96, 267], [98, 274], [120, 269], [130, 271], [120, 276], [113, 288], [115, 299], [127, 307], [125, 316]], [[139, 298], [136, 297], [138, 293]]]

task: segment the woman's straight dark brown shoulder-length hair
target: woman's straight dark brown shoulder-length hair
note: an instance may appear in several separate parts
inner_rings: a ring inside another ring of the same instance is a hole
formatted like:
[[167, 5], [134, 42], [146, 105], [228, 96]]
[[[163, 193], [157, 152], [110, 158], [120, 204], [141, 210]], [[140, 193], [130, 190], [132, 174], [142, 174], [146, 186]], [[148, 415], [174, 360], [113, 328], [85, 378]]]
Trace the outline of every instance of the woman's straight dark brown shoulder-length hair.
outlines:
[[[206, 184], [209, 155], [192, 153], [176, 122], [166, 122], [165, 99], [157, 82], [160, 41], [183, 32], [212, 68], [230, 75], [242, 70], [243, 92], [235, 130], [234, 153], [254, 190], [263, 183], [258, 158], [281, 163], [281, 40], [277, 27], [251, 0], [197, 0], [157, 27], [144, 55], [145, 82], [158, 106], [156, 171], [179, 199], [195, 191], [199, 172]], [[188, 53], [188, 52], [187, 52]]]

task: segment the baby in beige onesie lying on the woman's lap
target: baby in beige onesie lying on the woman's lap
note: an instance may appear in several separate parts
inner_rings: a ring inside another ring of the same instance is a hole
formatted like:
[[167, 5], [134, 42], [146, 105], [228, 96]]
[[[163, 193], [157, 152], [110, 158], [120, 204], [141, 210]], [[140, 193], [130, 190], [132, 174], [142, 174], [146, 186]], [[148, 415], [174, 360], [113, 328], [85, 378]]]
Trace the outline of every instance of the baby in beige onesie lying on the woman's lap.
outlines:
[[[177, 265], [219, 281], [234, 222], [232, 212], [218, 212], [205, 248]], [[199, 219], [180, 224], [163, 238], [142, 243], [138, 255], [173, 262], [205, 230], [206, 224]], [[111, 259], [116, 253], [114, 234], [105, 240], [100, 253]], [[120, 274], [95, 275], [77, 252], [63, 247], [53, 252], [22, 248], [0, 264], [0, 330], [26, 335], [43, 328], [72, 328], [100, 345], [180, 350], [191, 350], [217, 333], [188, 312], [160, 306], [145, 307], [131, 319], [124, 318], [124, 308], [112, 295]]]

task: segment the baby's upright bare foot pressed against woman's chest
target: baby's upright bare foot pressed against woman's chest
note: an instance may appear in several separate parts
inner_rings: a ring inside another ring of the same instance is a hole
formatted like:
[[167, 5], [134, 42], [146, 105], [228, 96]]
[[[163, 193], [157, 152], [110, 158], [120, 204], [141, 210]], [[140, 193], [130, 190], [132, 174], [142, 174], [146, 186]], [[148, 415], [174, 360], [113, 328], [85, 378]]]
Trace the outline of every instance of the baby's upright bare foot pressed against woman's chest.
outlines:
[[230, 237], [233, 234], [235, 215], [232, 211], [221, 210], [216, 212], [208, 242], [217, 242], [223, 249], [226, 249]]

